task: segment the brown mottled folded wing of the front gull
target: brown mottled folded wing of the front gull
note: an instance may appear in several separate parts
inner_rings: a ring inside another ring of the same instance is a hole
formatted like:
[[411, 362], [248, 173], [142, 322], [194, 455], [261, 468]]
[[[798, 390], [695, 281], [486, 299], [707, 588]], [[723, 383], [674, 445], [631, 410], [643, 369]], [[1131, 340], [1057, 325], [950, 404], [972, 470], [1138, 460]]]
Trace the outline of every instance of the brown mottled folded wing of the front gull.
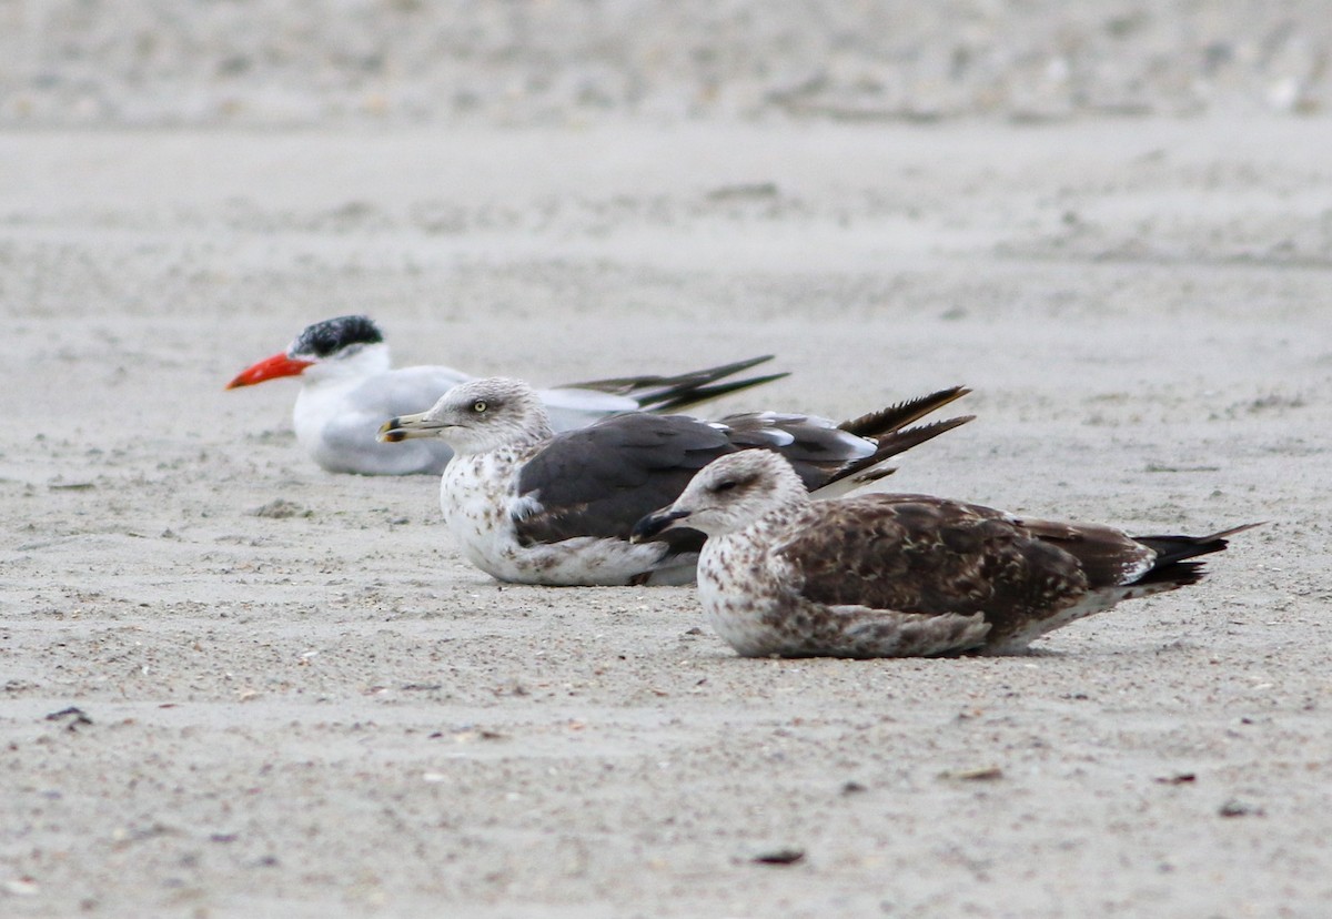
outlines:
[[817, 603], [902, 613], [986, 613], [995, 635], [1087, 590], [1078, 559], [1002, 513], [923, 495], [814, 503], [777, 549]]

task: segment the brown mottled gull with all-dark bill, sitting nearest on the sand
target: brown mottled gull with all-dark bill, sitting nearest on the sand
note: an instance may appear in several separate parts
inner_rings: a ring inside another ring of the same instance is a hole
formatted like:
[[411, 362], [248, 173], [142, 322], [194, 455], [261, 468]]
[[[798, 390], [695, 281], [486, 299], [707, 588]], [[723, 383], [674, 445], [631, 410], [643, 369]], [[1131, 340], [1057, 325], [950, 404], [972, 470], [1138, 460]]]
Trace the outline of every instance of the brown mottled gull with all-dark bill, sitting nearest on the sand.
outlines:
[[698, 597], [745, 657], [1004, 653], [1108, 610], [1197, 582], [1225, 537], [1130, 537], [1022, 519], [920, 494], [811, 501], [781, 456], [721, 457], [634, 539], [707, 534]]

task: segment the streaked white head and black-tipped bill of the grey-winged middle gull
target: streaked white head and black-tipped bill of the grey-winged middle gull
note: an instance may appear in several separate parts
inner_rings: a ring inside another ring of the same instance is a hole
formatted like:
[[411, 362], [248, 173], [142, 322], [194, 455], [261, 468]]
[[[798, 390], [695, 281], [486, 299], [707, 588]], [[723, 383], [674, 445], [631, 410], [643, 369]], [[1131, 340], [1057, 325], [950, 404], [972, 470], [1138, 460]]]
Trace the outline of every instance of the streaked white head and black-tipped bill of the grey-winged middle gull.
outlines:
[[458, 384], [429, 412], [405, 414], [380, 428], [386, 442], [436, 437], [458, 456], [488, 453], [502, 446], [541, 442], [551, 437], [546, 408], [521, 380], [489, 377]]

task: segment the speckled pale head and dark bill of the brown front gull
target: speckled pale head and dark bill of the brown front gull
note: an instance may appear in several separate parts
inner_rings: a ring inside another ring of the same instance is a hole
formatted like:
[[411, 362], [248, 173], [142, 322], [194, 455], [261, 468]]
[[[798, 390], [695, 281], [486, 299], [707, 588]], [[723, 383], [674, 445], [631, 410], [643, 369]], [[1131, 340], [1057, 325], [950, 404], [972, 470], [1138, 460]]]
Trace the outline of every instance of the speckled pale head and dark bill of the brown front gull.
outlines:
[[809, 501], [791, 463], [771, 450], [729, 453], [703, 466], [670, 507], [634, 525], [634, 542], [677, 526], [714, 537], [742, 530], [761, 517]]

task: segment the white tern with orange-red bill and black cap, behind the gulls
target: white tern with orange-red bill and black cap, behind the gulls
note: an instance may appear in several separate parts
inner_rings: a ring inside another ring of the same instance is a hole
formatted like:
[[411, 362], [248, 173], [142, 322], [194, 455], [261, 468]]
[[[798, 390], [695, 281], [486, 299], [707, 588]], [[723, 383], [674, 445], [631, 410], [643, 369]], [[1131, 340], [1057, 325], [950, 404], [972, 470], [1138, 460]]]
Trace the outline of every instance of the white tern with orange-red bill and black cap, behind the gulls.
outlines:
[[[593, 380], [541, 390], [555, 430], [582, 428], [619, 412], [675, 412], [726, 393], [778, 380], [774, 373], [727, 380], [771, 356], [675, 376]], [[340, 316], [306, 326], [285, 352], [268, 357], [226, 388], [300, 377], [292, 424], [301, 448], [330, 473], [410, 475], [440, 473], [453, 452], [442, 441], [389, 448], [376, 440], [388, 418], [420, 412], [472, 374], [445, 366], [392, 369], [389, 346], [365, 316]], [[725, 382], [722, 382], [725, 381]]]

